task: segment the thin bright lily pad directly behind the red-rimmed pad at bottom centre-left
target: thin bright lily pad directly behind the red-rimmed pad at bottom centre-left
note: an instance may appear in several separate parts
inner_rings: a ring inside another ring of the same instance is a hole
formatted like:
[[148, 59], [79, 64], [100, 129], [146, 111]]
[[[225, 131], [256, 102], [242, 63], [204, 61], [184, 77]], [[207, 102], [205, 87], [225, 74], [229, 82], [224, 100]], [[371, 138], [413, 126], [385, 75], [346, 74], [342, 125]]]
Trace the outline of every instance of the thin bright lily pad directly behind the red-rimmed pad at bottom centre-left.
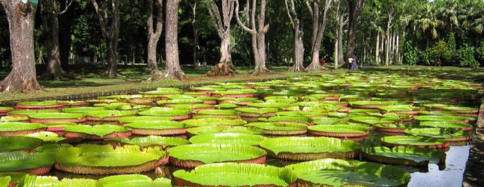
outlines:
[[249, 146], [259, 145], [266, 139], [261, 135], [239, 134], [239, 133], [218, 133], [196, 135], [189, 139], [192, 144], [243, 144]]

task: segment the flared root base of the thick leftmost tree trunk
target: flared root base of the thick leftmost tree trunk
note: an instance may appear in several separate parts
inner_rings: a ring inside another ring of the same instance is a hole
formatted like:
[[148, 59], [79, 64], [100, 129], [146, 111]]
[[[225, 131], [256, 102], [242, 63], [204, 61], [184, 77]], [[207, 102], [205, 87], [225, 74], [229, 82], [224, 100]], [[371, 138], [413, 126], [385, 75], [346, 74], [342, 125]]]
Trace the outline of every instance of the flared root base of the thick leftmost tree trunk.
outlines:
[[12, 79], [12, 77], [6, 77], [3, 79], [0, 85], [0, 92], [30, 92], [32, 90], [43, 90], [44, 87], [37, 83], [37, 80], [32, 77], [27, 81], [21, 83], [21, 80]]

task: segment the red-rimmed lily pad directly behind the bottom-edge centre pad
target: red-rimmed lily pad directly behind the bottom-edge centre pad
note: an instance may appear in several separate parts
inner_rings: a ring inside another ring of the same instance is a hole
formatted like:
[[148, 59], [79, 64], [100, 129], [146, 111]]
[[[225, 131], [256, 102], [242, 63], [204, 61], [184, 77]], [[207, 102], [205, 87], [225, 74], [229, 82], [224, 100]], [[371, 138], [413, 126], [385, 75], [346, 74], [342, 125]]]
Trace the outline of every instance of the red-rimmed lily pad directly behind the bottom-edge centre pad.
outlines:
[[243, 144], [189, 144], [168, 150], [170, 162], [182, 168], [195, 168], [216, 162], [266, 162], [266, 151]]

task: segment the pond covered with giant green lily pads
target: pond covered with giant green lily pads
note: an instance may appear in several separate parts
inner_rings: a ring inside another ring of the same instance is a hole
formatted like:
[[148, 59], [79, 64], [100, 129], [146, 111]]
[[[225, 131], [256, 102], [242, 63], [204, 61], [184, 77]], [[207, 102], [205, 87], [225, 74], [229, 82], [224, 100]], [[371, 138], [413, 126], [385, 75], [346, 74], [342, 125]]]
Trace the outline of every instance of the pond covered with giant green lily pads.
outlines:
[[0, 107], [0, 186], [462, 186], [482, 86], [436, 77], [341, 72]]

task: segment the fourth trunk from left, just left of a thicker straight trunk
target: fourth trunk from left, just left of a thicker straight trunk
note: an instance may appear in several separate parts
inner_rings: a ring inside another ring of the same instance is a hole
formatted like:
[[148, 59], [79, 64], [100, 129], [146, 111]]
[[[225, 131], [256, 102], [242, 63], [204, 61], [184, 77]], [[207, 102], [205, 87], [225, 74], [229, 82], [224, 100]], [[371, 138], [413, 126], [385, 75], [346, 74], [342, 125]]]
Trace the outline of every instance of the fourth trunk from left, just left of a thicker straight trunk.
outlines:
[[[158, 70], [158, 61], [156, 60], [156, 49], [158, 47], [158, 41], [160, 40], [161, 32], [163, 29], [163, 0], [147, 0], [147, 31], [148, 31], [148, 47], [147, 47], [147, 60], [148, 60], [148, 72], [152, 75], [161, 75]], [[155, 12], [156, 11], [156, 12]], [[153, 14], [156, 14], [153, 17]], [[154, 24], [154, 23], [156, 24]]]

